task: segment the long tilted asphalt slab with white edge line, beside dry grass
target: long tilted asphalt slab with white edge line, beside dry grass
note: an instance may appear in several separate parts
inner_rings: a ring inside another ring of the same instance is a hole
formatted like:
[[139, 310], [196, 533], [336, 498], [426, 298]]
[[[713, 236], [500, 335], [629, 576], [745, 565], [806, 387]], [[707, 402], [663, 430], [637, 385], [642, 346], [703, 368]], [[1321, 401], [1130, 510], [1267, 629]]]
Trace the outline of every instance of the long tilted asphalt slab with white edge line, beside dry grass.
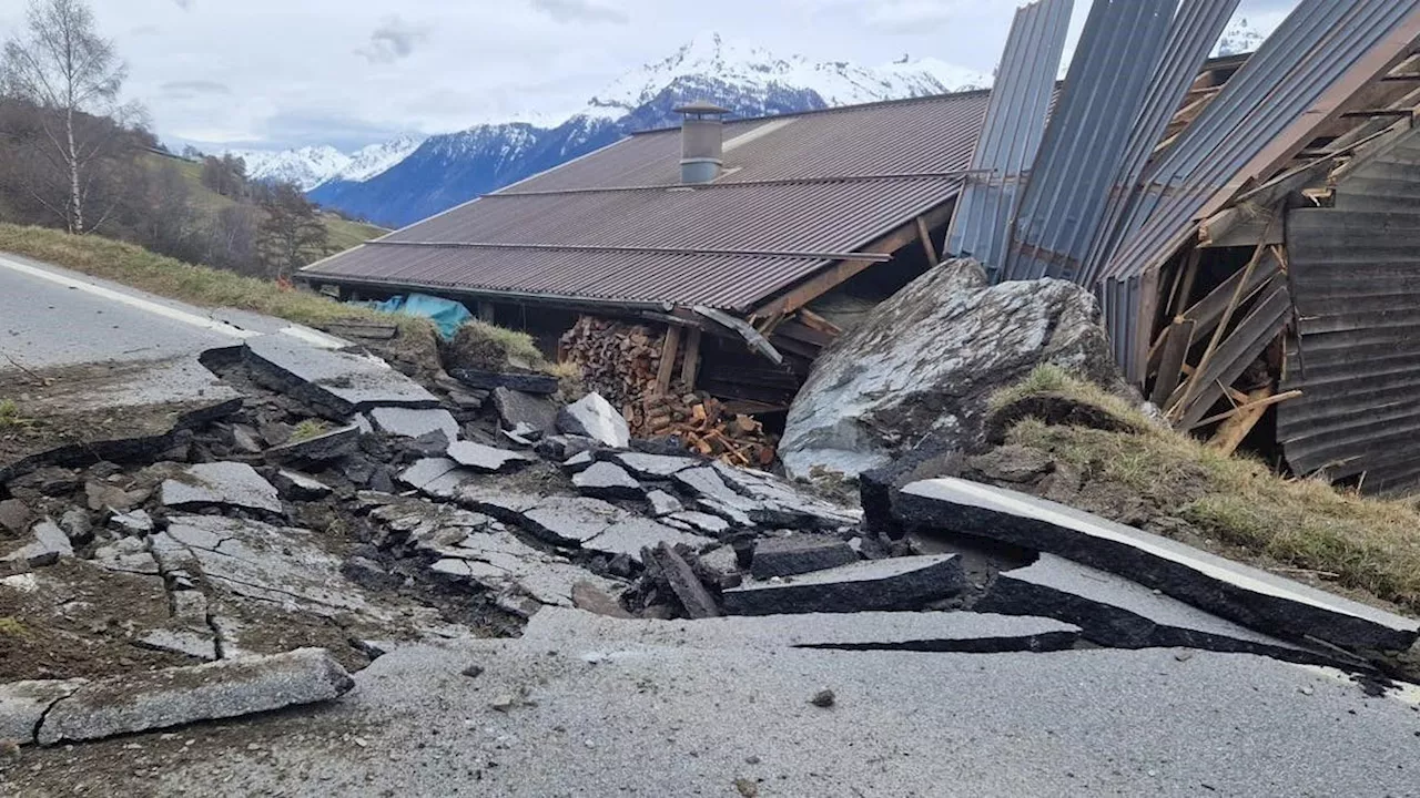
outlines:
[[1420, 621], [1402, 618], [1064, 504], [958, 479], [912, 483], [893, 517], [1055, 554], [1254, 629], [1336, 646], [1404, 650]]

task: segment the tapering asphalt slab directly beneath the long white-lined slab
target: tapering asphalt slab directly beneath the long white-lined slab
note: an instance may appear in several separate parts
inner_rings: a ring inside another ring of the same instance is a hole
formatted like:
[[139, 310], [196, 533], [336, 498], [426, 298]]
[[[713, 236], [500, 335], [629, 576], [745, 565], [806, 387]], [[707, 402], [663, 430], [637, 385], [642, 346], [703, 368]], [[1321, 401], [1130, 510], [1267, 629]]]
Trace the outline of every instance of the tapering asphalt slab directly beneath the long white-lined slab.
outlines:
[[1119, 649], [1189, 647], [1336, 663], [1333, 655], [1269, 638], [1137, 582], [1051, 554], [1025, 568], [998, 574], [973, 609], [1055, 618], [1081, 626], [1085, 639], [1093, 643]]

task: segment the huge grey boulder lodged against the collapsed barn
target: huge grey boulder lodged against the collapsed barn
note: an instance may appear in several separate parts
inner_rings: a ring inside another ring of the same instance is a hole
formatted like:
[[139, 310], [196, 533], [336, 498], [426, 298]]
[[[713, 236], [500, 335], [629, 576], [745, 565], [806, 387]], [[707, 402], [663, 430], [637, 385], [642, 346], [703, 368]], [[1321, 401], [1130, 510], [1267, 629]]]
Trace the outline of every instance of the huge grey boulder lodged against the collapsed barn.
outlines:
[[926, 433], [981, 443], [987, 398], [1051, 364], [1119, 383], [1099, 307], [1062, 280], [990, 285], [974, 261], [946, 261], [875, 308], [819, 355], [790, 408], [780, 457], [856, 476]]

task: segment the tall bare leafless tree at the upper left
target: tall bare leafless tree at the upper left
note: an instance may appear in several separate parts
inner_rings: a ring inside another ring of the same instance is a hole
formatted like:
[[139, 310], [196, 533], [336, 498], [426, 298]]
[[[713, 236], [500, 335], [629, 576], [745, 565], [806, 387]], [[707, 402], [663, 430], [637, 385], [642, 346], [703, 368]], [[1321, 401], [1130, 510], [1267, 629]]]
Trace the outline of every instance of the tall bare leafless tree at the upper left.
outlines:
[[[3, 80], [7, 92], [43, 109], [48, 155], [65, 172], [62, 202], [71, 233], [85, 231], [85, 199], [94, 163], [121, 129], [125, 109], [118, 91], [128, 70], [114, 43], [94, 28], [94, 14], [82, 0], [31, 0], [23, 34], [4, 45]], [[84, 114], [112, 116], [115, 125], [84, 125]]]

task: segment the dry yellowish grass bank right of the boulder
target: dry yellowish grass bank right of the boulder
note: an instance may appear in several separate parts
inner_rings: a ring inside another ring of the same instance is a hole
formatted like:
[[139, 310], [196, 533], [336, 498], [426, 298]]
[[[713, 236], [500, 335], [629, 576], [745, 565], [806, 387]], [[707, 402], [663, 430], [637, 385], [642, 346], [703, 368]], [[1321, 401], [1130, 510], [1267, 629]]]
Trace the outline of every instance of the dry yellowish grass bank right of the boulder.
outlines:
[[[1035, 388], [1017, 386], [1018, 396], [1044, 388], [1082, 400], [1100, 393], [1059, 375], [1028, 382]], [[1413, 504], [1281, 477], [1264, 463], [1220, 454], [1186, 434], [1142, 429], [1103, 432], [1027, 419], [1011, 429], [1008, 443], [1049, 452], [1088, 481], [1118, 484], [1224, 544], [1333, 575], [1339, 585], [1420, 612], [1420, 513]]]

